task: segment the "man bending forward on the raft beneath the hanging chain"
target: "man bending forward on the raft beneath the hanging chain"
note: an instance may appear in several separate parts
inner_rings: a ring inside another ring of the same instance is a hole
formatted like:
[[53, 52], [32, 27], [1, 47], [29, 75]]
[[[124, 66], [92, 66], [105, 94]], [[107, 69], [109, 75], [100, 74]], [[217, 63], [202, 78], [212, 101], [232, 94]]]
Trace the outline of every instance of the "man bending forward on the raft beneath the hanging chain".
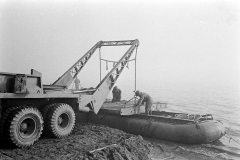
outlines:
[[145, 114], [149, 115], [149, 112], [150, 112], [150, 114], [152, 114], [151, 107], [152, 107], [153, 101], [152, 101], [151, 96], [147, 93], [140, 92], [140, 91], [136, 91], [135, 95], [140, 98], [138, 103], [137, 103], [137, 106], [140, 106], [142, 103], [146, 102], [146, 104], [145, 104]]

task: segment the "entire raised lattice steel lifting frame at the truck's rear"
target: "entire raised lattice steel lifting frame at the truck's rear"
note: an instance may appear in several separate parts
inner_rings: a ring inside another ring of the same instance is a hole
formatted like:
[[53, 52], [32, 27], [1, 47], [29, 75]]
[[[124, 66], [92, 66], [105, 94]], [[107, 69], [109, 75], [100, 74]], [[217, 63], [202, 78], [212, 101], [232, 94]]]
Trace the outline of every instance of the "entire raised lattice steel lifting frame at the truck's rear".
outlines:
[[[71, 68], [69, 68], [57, 81], [53, 83], [53, 85], [65, 86], [68, 88], [71, 83], [75, 80], [78, 73], [82, 70], [82, 68], [89, 61], [91, 56], [94, 54], [97, 48], [101, 48], [102, 46], [123, 46], [123, 45], [131, 45], [131, 47], [127, 50], [127, 52], [122, 56], [122, 58], [115, 62], [115, 65], [108, 72], [108, 74], [101, 80], [96, 88], [91, 89], [91, 93], [85, 94], [85, 91], [74, 91], [73, 93], [79, 94], [79, 110], [80, 111], [89, 111], [92, 110], [94, 113], [98, 113], [102, 104], [104, 103], [106, 97], [108, 96], [110, 90], [116, 83], [118, 77], [122, 73], [124, 67], [130, 61], [130, 57], [134, 50], [138, 47], [139, 41], [135, 40], [124, 40], [124, 41], [99, 41], [96, 43], [82, 58], [80, 58]], [[136, 61], [135, 55], [135, 60]], [[100, 54], [101, 57], [101, 54]], [[136, 63], [135, 63], [136, 68]], [[101, 71], [100, 71], [101, 74]], [[136, 79], [136, 73], [135, 73]], [[135, 83], [136, 88], [136, 83]], [[89, 92], [89, 90], [86, 90]], [[81, 94], [80, 94], [81, 93]]]

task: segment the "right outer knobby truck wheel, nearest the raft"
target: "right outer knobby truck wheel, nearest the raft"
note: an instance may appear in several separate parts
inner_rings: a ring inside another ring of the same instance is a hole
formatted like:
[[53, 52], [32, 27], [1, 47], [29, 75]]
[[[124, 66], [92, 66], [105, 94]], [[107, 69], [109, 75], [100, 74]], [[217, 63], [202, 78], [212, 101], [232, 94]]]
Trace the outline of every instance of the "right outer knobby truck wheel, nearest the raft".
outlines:
[[68, 104], [55, 103], [48, 111], [45, 124], [48, 136], [54, 138], [66, 137], [74, 128], [75, 113]]

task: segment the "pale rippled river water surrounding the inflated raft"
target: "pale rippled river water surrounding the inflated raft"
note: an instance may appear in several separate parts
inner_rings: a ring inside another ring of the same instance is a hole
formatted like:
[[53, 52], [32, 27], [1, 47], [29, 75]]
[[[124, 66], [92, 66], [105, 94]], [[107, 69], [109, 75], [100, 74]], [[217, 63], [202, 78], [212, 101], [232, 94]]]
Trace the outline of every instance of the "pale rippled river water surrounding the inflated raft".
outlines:
[[[211, 144], [186, 145], [148, 139], [159, 145], [159, 159], [240, 159], [240, 89], [238, 86], [160, 86], [148, 91], [155, 101], [165, 101], [165, 111], [212, 114], [223, 122], [227, 135]], [[232, 139], [230, 139], [231, 137]]]

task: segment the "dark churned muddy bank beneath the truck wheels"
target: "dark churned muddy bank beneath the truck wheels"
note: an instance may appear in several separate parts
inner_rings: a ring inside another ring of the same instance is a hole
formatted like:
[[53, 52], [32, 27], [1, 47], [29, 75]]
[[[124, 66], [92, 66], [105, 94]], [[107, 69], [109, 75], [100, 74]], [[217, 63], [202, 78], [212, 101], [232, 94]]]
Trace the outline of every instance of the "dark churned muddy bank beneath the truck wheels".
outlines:
[[28, 148], [0, 148], [0, 159], [148, 160], [153, 144], [103, 125], [77, 124], [64, 139], [41, 138]]

